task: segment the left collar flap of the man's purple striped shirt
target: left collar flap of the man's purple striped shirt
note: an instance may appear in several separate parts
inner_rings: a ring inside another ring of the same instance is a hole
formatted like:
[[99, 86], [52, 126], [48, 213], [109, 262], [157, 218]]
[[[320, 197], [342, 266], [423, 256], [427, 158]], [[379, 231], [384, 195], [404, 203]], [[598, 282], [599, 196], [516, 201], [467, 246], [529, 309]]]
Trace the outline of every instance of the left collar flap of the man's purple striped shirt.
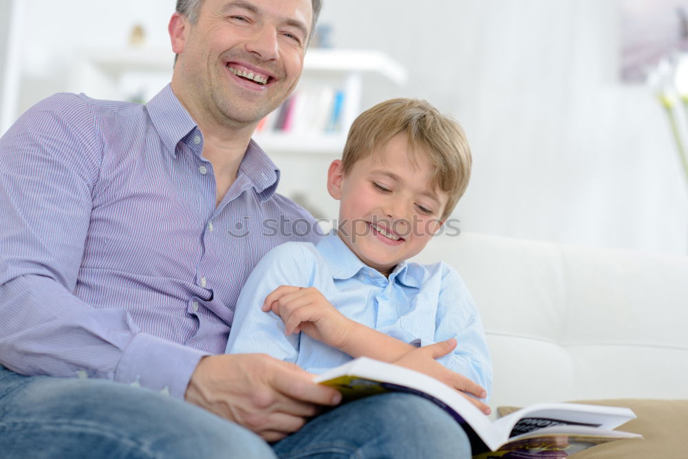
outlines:
[[167, 151], [175, 156], [177, 144], [196, 129], [196, 122], [172, 92], [170, 84], [162, 88], [162, 91], [146, 104], [146, 110], [160, 140], [167, 147]]

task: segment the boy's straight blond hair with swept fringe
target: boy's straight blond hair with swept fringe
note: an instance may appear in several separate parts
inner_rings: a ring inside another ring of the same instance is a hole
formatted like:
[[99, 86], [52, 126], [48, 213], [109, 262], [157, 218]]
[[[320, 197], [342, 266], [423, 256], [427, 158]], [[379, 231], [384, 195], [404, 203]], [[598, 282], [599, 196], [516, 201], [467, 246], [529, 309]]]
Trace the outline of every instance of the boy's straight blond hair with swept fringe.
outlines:
[[446, 220], [469, 184], [471, 149], [458, 122], [440, 114], [426, 100], [391, 99], [360, 114], [344, 147], [343, 173], [400, 133], [407, 135], [411, 161], [415, 162], [418, 153], [426, 155], [433, 168], [433, 187], [449, 195], [441, 217]]

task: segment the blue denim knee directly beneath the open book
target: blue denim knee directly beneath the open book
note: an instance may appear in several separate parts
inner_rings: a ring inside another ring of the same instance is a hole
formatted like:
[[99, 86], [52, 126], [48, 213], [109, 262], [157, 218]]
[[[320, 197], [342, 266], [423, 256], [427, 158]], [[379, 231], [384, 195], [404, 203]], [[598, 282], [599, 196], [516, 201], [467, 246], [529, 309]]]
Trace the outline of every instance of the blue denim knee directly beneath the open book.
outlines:
[[437, 405], [411, 394], [347, 403], [273, 445], [281, 459], [470, 459], [463, 429]]

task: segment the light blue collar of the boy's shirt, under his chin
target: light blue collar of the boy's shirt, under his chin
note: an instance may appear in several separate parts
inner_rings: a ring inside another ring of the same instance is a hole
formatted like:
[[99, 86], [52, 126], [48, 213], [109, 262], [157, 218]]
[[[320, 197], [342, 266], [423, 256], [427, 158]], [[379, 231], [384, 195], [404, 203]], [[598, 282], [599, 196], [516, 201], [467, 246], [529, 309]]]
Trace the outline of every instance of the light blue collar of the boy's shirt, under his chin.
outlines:
[[[334, 279], [351, 279], [358, 273], [362, 273], [369, 279], [385, 279], [385, 276], [378, 270], [367, 266], [361, 259], [358, 259], [356, 254], [336, 234], [336, 231], [323, 237], [316, 247], [327, 264], [330, 265], [330, 273]], [[394, 267], [389, 275], [389, 282], [397, 281], [407, 287], [420, 288], [423, 276], [424, 268], [422, 266], [402, 261]]]

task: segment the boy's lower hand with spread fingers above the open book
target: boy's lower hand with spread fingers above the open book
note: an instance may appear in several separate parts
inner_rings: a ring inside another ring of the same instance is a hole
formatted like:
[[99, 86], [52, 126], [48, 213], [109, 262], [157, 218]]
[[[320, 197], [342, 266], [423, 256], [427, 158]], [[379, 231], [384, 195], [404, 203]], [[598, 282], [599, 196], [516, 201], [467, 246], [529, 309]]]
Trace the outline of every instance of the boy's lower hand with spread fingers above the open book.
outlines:
[[399, 365], [400, 367], [407, 367], [411, 370], [416, 370], [432, 376], [433, 378], [442, 381], [442, 383], [457, 389], [462, 395], [464, 395], [473, 405], [478, 407], [480, 411], [484, 414], [490, 414], [492, 410], [490, 407], [482, 403], [473, 397], [469, 397], [467, 394], [473, 394], [478, 398], [485, 398], [487, 392], [485, 389], [473, 383], [469, 378], [458, 374], [451, 370], [447, 370], [441, 363], [436, 361], [438, 357], [449, 354], [456, 347], [455, 339], [448, 339], [447, 341], [440, 341], [439, 343], [434, 343], [431, 345], [423, 346], [422, 348], [416, 348], [411, 352], [407, 352], [397, 361], [393, 363]]

